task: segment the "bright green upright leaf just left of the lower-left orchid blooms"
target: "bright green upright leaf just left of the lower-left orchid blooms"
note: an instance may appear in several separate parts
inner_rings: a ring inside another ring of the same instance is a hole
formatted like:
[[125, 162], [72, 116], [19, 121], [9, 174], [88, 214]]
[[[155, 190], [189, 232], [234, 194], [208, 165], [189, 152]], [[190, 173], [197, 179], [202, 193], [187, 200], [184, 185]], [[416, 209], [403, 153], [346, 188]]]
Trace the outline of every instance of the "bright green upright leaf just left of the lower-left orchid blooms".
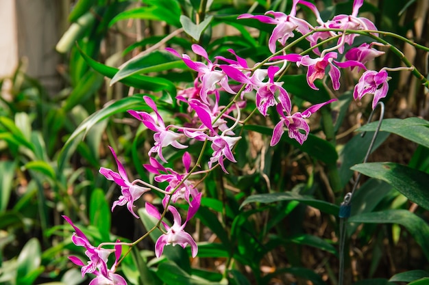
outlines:
[[106, 195], [101, 189], [94, 189], [91, 193], [89, 205], [90, 223], [99, 229], [101, 238], [109, 240], [110, 236], [110, 207]]

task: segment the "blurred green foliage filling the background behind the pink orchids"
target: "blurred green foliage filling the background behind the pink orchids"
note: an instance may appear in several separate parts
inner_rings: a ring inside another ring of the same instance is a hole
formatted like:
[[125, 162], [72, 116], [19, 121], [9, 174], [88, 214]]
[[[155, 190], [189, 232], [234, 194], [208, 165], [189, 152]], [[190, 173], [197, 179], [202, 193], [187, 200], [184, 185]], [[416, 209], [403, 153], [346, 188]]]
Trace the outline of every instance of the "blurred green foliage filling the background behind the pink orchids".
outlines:
[[[201, 13], [200, 2], [210, 8]], [[353, 1], [313, 2], [324, 19], [352, 11]], [[143, 211], [143, 223], [123, 208], [110, 213], [119, 189], [98, 169], [114, 168], [109, 145], [130, 173], [150, 181], [142, 164], [147, 163], [151, 134], [126, 111], [149, 111], [141, 100], [149, 94], [159, 98], [167, 120], [178, 120], [174, 113], [186, 110], [174, 103], [175, 86], [184, 87], [195, 75], [163, 48], [189, 53], [197, 42], [210, 58], [228, 56], [227, 49], [234, 49], [259, 62], [269, 56], [266, 43], [272, 27], [237, 21], [236, 16], [288, 12], [291, 1], [79, 0], [63, 5], [68, 24], [56, 46], [62, 58], [57, 69], [60, 90], [48, 91], [29, 77], [25, 62], [0, 81], [1, 284], [81, 284], [79, 269], [66, 256], [83, 252], [71, 243], [71, 228], [60, 215], [85, 226], [93, 244], [140, 236], [150, 219]], [[380, 30], [429, 46], [428, 8], [425, 0], [378, 0], [365, 1], [360, 12]], [[314, 23], [308, 10], [299, 13]], [[396, 38], [386, 40], [427, 74], [426, 53]], [[400, 65], [391, 53], [374, 62], [376, 69]], [[409, 72], [392, 77], [385, 118], [428, 118], [428, 94], [419, 82]], [[111, 85], [111, 80], [116, 83]], [[302, 87], [303, 74], [287, 75], [284, 81], [299, 107], [330, 96], [328, 87], [321, 86], [321, 92]], [[186, 250], [171, 247], [166, 248], [167, 258], [156, 260], [153, 242], [144, 241], [122, 263], [121, 273], [130, 284], [337, 284], [338, 205], [356, 177], [350, 167], [363, 161], [371, 139], [354, 132], [365, 124], [370, 106], [352, 101], [352, 74], [343, 81], [334, 94], [340, 98], [332, 107], [334, 121], [330, 111], [324, 111], [311, 122], [315, 135], [323, 139], [311, 136], [302, 147], [282, 139], [269, 148], [271, 130], [262, 118], [252, 119], [236, 149], [238, 163], [230, 165], [232, 175], [214, 171], [201, 185], [205, 196], [191, 227], [201, 241], [197, 258], [190, 260]], [[274, 113], [271, 118], [275, 120]], [[370, 161], [400, 163], [391, 165], [397, 175], [417, 169], [403, 181], [411, 185], [421, 180], [419, 191], [428, 182], [428, 122], [402, 122], [408, 132], [383, 130]], [[415, 134], [423, 139], [415, 139]], [[196, 155], [199, 150], [195, 146], [189, 151]], [[169, 156], [179, 157], [175, 152]], [[402, 169], [404, 165], [408, 167]], [[347, 283], [411, 282], [429, 276], [427, 198], [413, 200], [413, 193], [380, 174], [379, 166], [370, 172], [356, 166], [379, 179], [366, 179], [354, 200], [352, 215], [357, 217], [348, 225]], [[405, 271], [408, 275], [397, 274]]]

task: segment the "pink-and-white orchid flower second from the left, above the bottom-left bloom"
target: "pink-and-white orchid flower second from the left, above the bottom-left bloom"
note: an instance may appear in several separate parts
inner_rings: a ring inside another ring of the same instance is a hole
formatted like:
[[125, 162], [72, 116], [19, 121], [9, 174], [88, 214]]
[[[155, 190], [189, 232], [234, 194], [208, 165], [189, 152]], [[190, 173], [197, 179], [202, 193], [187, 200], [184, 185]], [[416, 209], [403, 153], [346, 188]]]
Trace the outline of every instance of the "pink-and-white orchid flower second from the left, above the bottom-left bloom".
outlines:
[[112, 180], [117, 185], [121, 186], [122, 195], [119, 196], [119, 199], [113, 202], [112, 211], [116, 206], [123, 206], [127, 204], [128, 211], [134, 215], [137, 219], [139, 218], [136, 213], [134, 213], [134, 201], [138, 200], [138, 198], [143, 195], [143, 193], [149, 191], [149, 188], [141, 187], [135, 184], [135, 182], [130, 182], [127, 176], [127, 172], [125, 171], [125, 167], [123, 167], [121, 161], [117, 158], [117, 154], [114, 152], [113, 148], [110, 148], [110, 151], [113, 154], [114, 160], [118, 165], [118, 172], [114, 172], [112, 169], [108, 169], [105, 167], [101, 167], [99, 172], [103, 174], [108, 180]]

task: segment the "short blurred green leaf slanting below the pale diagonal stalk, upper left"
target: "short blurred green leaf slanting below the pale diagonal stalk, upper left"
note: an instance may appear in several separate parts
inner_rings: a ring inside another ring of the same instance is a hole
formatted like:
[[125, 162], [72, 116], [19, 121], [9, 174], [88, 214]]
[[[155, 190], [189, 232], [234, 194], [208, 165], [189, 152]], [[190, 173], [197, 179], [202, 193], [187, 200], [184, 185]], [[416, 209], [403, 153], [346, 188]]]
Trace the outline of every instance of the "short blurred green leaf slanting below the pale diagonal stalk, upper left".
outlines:
[[84, 104], [103, 84], [103, 76], [94, 70], [88, 70], [84, 77], [77, 82], [73, 91], [66, 99], [64, 112], [70, 111], [77, 104]]

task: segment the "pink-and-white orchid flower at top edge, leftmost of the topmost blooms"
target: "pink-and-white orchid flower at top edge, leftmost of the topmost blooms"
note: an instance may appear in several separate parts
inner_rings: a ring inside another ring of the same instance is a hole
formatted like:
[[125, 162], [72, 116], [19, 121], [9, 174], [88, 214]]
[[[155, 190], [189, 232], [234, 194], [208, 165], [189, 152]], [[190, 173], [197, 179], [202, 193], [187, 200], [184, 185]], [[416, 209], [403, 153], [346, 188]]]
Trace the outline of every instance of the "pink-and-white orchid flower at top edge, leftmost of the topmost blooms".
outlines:
[[278, 41], [282, 46], [284, 46], [286, 44], [286, 40], [293, 37], [293, 31], [298, 31], [303, 35], [310, 32], [311, 25], [303, 19], [295, 17], [296, 5], [298, 2], [299, 0], [293, 0], [292, 9], [289, 15], [282, 12], [268, 11], [265, 15], [273, 15], [274, 18], [264, 15], [254, 16], [252, 14], [242, 14], [238, 16], [238, 19], [255, 18], [262, 23], [276, 25], [268, 42], [269, 51], [271, 51], [271, 53], [275, 53], [275, 43]]

